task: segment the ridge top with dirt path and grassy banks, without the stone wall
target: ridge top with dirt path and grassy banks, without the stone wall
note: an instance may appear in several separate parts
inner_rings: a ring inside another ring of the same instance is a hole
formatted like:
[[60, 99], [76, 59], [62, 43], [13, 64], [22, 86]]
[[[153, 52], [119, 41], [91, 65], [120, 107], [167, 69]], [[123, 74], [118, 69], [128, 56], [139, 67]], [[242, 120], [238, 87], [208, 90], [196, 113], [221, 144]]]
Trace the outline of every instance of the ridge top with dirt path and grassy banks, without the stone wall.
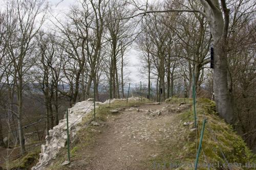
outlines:
[[[146, 102], [149, 101], [131, 101], [128, 106], [126, 101], [115, 101], [111, 107], [100, 105], [96, 109], [99, 125], [88, 124], [93, 112], [83, 117], [81, 129], [71, 144], [71, 163], [61, 165], [67, 160], [67, 150], [62, 148], [46, 169], [193, 169], [189, 165], [196, 159], [204, 118], [207, 122], [199, 163], [211, 163], [214, 167], [198, 169], [228, 169], [216, 167], [228, 163], [251, 166], [229, 169], [256, 169], [255, 155], [218, 116], [214, 102], [197, 100], [197, 131], [191, 100], [184, 103], [184, 99], [172, 98], [159, 105]], [[114, 108], [118, 113], [110, 112]]]

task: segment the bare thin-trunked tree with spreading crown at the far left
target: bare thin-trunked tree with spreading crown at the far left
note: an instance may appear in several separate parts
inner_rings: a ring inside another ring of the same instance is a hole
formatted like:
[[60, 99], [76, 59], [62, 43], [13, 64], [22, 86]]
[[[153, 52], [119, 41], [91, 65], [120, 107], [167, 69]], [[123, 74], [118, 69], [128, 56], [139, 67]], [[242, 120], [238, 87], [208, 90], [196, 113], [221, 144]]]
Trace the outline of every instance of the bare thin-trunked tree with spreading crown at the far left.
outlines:
[[[17, 92], [17, 120], [20, 151], [22, 153], [25, 152], [22, 128], [24, 78], [32, 66], [29, 55], [32, 53], [34, 48], [32, 43], [33, 38], [45, 20], [45, 11], [47, 6], [44, 5], [45, 1], [30, 0], [6, 3], [6, 17], [8, 18], [6, 27], [10, 32], [7, 48], [8, 55], [13, 64], [13, 72], [11, 74]], [[36, 23], [36, 19], [40, 19], [40, 22]]]

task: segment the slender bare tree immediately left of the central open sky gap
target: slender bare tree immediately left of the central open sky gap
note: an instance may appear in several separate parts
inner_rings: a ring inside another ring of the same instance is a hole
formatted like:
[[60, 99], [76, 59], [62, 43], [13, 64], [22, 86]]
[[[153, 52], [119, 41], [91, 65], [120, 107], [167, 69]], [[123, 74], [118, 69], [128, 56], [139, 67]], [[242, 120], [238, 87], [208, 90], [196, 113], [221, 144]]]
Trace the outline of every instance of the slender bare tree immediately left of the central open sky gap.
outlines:
[[123, 92], [123, 55], [127, 46], [129, 46], [133, 39], [132, 35], [135, 25], [129, 20], [120, 20], [119, 18], [130, 15], [129, 3], [127, 1], [111, 0], [108, 3], [108, 11], [106, 16], [106, 28], [108, 33], [106, 39], [109, 41], [110, 53], [110, 98], [120, 98], [119, 92], [119, 78], [118, 78], [118, 60], [121, 59], [121, 89]]

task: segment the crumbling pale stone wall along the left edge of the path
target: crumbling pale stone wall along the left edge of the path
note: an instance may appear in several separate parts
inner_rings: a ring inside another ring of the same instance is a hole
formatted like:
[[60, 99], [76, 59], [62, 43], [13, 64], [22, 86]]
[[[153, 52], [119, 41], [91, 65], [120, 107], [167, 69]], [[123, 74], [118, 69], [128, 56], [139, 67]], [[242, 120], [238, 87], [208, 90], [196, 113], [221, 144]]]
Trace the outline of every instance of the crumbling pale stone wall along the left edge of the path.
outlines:
[[[127, 99], [113, 99], [106, 100], [104, 103], [95, 102], [96, 107], [102, 104], [109, 104], [115, 101], [126, 101]], [[138, 101], [140, 98], [133, 97], [128, 99], [129, 101]], [[76, 103], [74, 107], [68, 109], [69, 113], [69, 128], [70, 128], [70, 141], [75, 138], [77, 131], [81, 128], [78, 124], [82, 121], [87, 113], [93, 110], [93, 99]], [[92, 124], [92, 123], [91, 123]], [[94, 126], [98, 126], [98, 123], [93, 123]], [[39, 154], [39, 162], [33, 166], [32, 170], [45, 169], [45, 166], [49, 164], [49, 161], [55, 159], [60, 149], [67, 144], [67, 119], [61, 119], [59, 124], [53, 129], [49, 130], [49, 135], [46, 136], [46, 144], [41, 145], [41, 153]]]

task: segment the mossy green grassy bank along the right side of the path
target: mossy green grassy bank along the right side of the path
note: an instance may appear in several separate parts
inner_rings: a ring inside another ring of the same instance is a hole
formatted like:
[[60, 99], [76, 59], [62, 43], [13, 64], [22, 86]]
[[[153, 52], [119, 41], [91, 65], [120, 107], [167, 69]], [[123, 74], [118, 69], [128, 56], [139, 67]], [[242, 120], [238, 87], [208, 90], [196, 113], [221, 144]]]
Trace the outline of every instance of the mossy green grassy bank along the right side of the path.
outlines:
[[[184, 102], [184, 99], [170, 99], [168, 103], [180, 103]], [[192, 104], [192, 100], [186, 99], [187, 103]], [[169, 163], [193, 163], [196, 158], [196, 141], [199, 144], [199, 134], [201, 133], [203, 119], [207, 119], [205, 126], [202, 148], [199, 162], [206, 163], [217, 163], [218, 161], [222, 164], [225, 163], [225, 159], [221, 153], [225, 155], [229, 163], [237, 162], [245, 164], [246, 162], [255, 162], [256, 157], [251, 153], [251, 151], [246, 147], [243, 139], [237, 135], [236, 132], [232, 130], [232, 127], [224, 122], [218, 116], [216, 112], [215, 103], [208, 99], [198, 99], [197, 100], [197, 116], [199, 129], [197, 131], [190, 131], [194, 125], [184, 126], [184, 122], [194, 122], [194, 112], [191, 107], [190, 110], [182, 112], [177, 115], [177, 131], [179, 135], [175, 136], [177, 138], [178, 144], [171, 145], [168, 142], [162, 142], [162, 147], [165, 148], [164, 152], [156, 158], [150, 160], [150, 162], [156, 162], [156, 165], [160, 167], [169, 167]], [[217, 140], [215, 140], [217, 139]], [[221, 150], [221, 151], [220, 151]], [[205, 156], [204, 156], [205, 155]], [[180, 167], [179, 169], [193, 169], [191, 167]], [[208, 169], [208, 168], [198, 168], [198, 169]], [[225, 168], [210, 168], [210, 169], [225, 169]], [[239, 169], [233, 167], [233, 169]], [[242, 168], [241, 168], [242, 169]], [[247, 169], [247, 168], [244, 168]], [[251, 168], [256, 169], [256, 168]]]

